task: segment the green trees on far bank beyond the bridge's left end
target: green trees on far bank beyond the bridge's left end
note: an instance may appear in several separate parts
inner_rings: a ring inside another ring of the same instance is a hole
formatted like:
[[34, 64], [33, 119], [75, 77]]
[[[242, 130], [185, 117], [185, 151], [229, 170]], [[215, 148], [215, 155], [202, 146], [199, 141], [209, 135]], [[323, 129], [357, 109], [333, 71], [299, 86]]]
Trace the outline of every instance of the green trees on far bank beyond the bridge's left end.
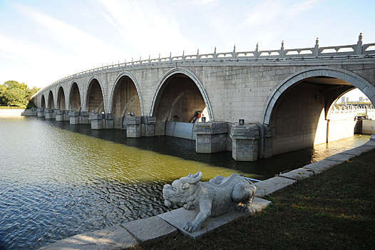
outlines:
[[36, 94], [39, 88], [29, 87], [18, 81], [6, 81], [0, 85], [0, 105], [5, 106], [33, 106], [31, 103], [31, 96]]

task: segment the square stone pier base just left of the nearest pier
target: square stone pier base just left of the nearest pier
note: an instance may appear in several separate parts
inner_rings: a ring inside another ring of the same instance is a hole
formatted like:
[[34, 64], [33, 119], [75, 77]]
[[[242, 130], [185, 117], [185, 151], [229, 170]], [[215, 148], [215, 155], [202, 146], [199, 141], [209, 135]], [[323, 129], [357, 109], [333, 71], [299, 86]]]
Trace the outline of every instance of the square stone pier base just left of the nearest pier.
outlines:
[[217, 153], [227, 151], [227, 122], [198, 122], [193, 131], [197, 134], [195, 151], [197, 153]]

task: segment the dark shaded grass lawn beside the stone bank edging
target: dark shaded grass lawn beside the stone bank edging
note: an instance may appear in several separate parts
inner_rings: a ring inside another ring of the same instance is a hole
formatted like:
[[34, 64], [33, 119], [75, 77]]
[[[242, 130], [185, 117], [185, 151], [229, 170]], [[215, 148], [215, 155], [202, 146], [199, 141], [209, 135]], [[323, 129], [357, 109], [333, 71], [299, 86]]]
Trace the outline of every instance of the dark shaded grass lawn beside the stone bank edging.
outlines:
[[261, 213], [201, 239], [178, 234], [136, 249], [375, 249], [375, 151], [267, 199]]

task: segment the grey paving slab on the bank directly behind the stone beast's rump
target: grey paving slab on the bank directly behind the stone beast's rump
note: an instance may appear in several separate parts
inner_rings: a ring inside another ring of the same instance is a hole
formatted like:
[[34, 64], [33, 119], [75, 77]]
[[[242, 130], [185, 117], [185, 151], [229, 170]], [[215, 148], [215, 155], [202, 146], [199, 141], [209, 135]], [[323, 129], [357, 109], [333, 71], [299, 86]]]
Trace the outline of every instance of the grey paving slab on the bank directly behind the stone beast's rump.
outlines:
[[279, 176], [257, 182], [256, 184], [254, 184], [255, 186], [257, 186], [257, 192], [255, 193], [255, 196], [263, 197], [272, 194], [274, 191], [294, 184], [294, 182], [296, 181]]

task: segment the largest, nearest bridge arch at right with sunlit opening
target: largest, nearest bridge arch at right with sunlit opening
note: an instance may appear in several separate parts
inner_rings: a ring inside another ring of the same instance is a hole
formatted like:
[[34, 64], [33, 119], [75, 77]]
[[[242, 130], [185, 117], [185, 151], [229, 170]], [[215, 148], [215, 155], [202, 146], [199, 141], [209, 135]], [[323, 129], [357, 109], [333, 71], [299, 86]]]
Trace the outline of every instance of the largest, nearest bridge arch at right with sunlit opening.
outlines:
[[351, 89], [375, 103], [375, 86], [346, 69], [317, 66], [287, 77], [269, 96], [263, 124], [274, 128], [272, 154], [303, 149], [354, 134], [354, 117], [332, 121], [329, 111]]

